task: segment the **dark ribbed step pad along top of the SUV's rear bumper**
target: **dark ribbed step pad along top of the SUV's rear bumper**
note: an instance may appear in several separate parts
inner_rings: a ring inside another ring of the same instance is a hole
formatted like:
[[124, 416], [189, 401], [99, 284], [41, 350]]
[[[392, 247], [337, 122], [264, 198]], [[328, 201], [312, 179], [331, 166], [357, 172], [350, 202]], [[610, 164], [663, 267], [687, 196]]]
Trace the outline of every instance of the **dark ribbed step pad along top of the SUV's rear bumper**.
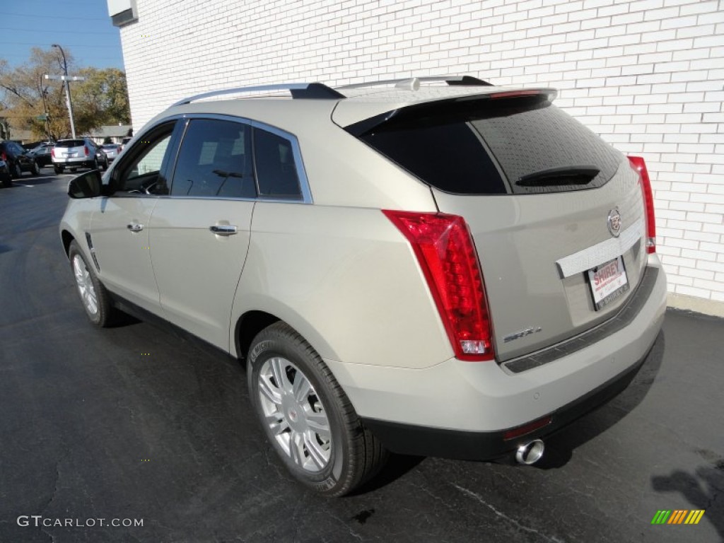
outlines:
[[519, 374], [521, 371], [527, 371], [534, 369], [544, 364], [556, 361], [558, 358], [563, 358], [570, 354], [575, 353], [578, 350], [584, 349], [599, 342], [605, 337], [608, 337], [621, 329], [627, 327], [633, 319], [643, 308], [644, 304], [649, 300], [654, 285], [656, 285], [657, 277], [659, 276], [659, 269], [653, 266], [647, 266], [644, 268], [641, 281], [639, 286], [636, 287], [636, 292], [631, 294], [631, 297], [626, 301], [626, 305], [618, 311], [611, 319], [602, 322], [597, 327], [586, 330], [582, 334], [578, 334], [575, 337], [571, 337], [568, 340], [551, 345], [550, 347], [536, 351], [530, 355], [521, 356], [520, 358], [513, 358], [513, 360], [503, 362], [501, 366], [513, 374]]

